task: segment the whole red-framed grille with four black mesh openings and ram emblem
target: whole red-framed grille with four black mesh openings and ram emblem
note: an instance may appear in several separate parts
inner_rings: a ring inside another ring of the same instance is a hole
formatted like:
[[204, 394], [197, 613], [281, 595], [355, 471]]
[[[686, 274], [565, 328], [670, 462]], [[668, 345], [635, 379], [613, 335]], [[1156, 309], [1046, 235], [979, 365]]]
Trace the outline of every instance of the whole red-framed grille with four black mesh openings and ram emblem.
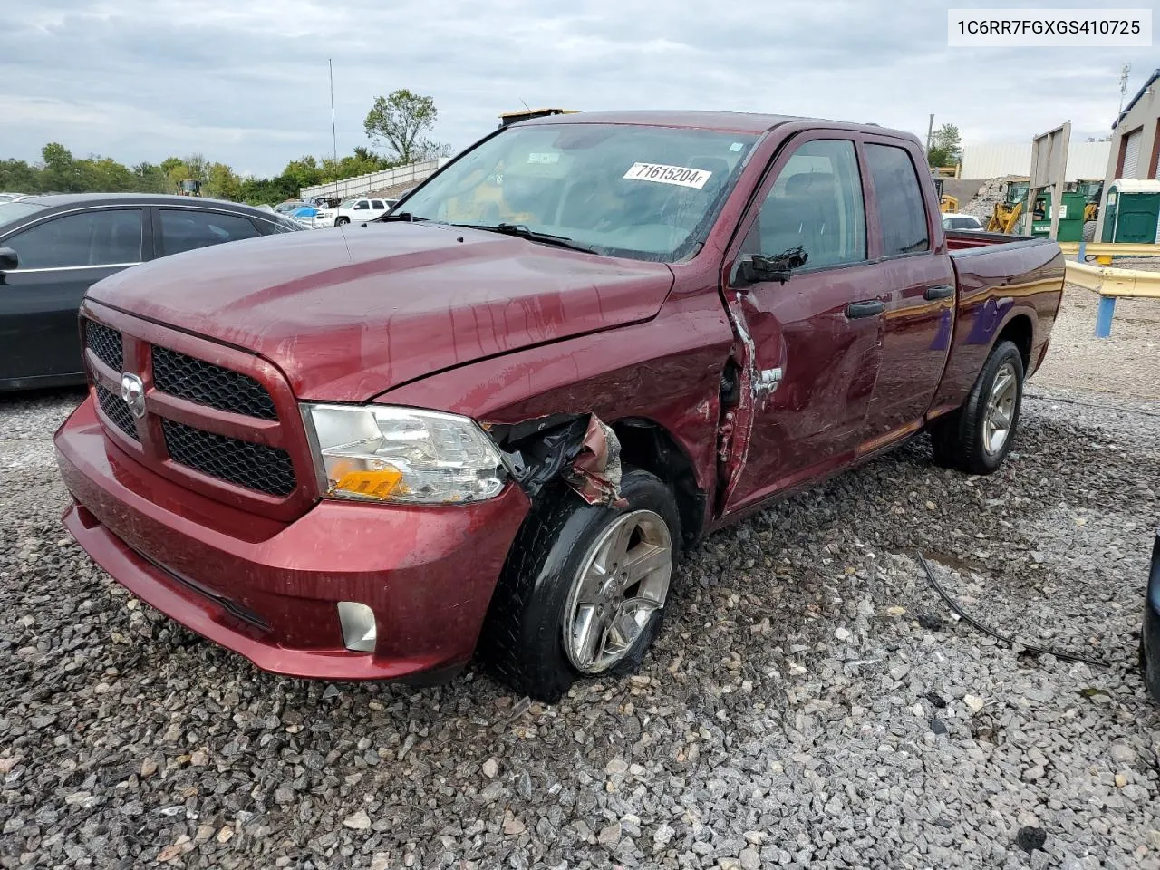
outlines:
[[[305, 432], [297, 414], [285, 413], [293, 397], [273, 367], [244, 351], [218, 350], [205, 340], [165, 327], [138, 327], [135, 319], [118, 312], [100, 316], [114, 325], [124, 322], [125, 332], [97, 322], [85, 307], [82, 314], [86, 346], [113, 370], [93, 367], [90, 372], [104, 425], [110, 436], [121, 435], [139, 445], [137, 456], [143, 464], [208, 494], [215, 485], [206, 477], [241, 487], [251, 495], [223, 488], [220, 498], [235, 505], [240, 499], [240, 503], [273, 517], [292, 519], [311, 503], [312, 493], [298, 486], [300, 478], [313, 479], [306, 477], [312, 461]], [[159, 343], [171, 339], [180, 350]], [[191, 353], [184, 353], [187, 349]], [[198, 358], [201, 355], [229, 365]], [[126, 358], [128, 374], [145, 382], [143, 421], [133, 418], [118, 392]], [[172, 399], [187, 404], [179, 406]], [[284, 412], [281, 418], [280, 407]], [[271, 502], [269, 496], [278, 501]]]

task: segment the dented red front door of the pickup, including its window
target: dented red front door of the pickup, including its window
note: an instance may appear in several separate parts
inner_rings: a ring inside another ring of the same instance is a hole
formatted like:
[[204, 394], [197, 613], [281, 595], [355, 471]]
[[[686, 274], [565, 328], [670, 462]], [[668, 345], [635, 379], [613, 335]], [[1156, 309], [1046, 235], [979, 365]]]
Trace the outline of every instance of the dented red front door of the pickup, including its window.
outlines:
[[862, 172], [853, 139], [805, 138], [775, 159], [742, 220], [731, 262], [800, 247], [785, 283], [725, 289], [748, 362], [727, 459], [725, 513], [826, 473], [864, 434], [880, 365], [882, 269], [867, 251]]

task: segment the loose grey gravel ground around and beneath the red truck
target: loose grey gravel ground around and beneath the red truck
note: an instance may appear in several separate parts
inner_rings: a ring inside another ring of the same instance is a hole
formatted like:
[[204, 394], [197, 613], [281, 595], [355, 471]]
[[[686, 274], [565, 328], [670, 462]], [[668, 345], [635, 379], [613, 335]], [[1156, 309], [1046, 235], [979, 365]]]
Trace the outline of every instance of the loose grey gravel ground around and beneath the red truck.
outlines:
[[[278, 679], [139, 606], [58, 522], [74, 400], [0, 405], [0, 867], [1160, 868], [1160, 404], [1032, 382], [993, 477], [919, 438], [718, 534], [640, 675], [543, 706]], [[1110, 667], [956, 622], [916, 550]]]

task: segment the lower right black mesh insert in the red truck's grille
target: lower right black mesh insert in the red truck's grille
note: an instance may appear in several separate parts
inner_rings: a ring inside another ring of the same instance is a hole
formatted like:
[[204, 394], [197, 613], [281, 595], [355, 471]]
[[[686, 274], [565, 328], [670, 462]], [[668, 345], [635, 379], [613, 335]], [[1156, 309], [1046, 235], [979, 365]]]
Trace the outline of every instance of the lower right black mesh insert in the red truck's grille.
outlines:
[[290, 454], [217, 433], [161, 420], [165, 445], [174, 462], [203, 474], [270, 495], [289, 495], [297, 481]]

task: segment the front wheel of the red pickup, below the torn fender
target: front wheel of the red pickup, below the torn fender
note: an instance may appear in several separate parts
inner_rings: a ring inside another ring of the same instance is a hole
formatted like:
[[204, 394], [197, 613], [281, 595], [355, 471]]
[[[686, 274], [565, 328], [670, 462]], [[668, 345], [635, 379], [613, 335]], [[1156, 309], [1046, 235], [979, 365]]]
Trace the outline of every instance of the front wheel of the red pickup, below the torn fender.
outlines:
[[[676, 500], [672, 490], [657, 477], [638, 470], [626, 471], [621, 480], [621, 494], [628, 507], [609, 508], [588, 505], [560, 485], [551, 495], [545, 494], [516, 535], [487, 611], [479, 657], [493, 676], [517, 693], [556, 703], [580, 676], [631, 674], [640, 667], [645, 652], [660, 631], [681, 541]], [[603, 567], [609, 564], [612, 567], [611, 577], [601, 588], [610, 587], [621, 577], [617, 563], [608, 561], [611, 558], [608, 553], [616, 549], [616, 532], [625, 530], [628, 550], [624, 554], [628, 558], [623, 566], [628, 567], [629, 559], [633, 559], [643, 567], [646, 565], [643, 556], [648, 554], [654, 561], [647, 564], [657, 567], [646, 579], [624, 589], [625, 601], [619, 608], [616, 595], [608, 601], [596, 595], [602, 603], [590, 610], [596, 614], [593, 624], [599, 625], [599, 614], [609, 610], [619, 615], [617, 622], [629, 619], [625, 608], [632, 602], [647, 599], [650, 607], [633, 606], [638, 608], [635, 618], [622, 622], [638, 633], [619, 650], [614, 648], [618, 645], [614, 638], [625, 638], [631, 632], [614, 635], [612, 628], [599, 635], [590, 632], [588, 637], [595, 636], [600, 648], [589, 662], [577, 650], [579, 635], [573, 636], [570, 631], [580, 624], [581, 614], [589, 612], [585, 610], [583, 599], [590, 596], [593, 579], [597, 581], [595, 586], [601, 586], [599, 577], [603, 574], [597, 575], [597, 568], [589, 570], [589, 565], [603, 559]], [[669, 553], [667, 572], [664, 556], [659, 554], [665, 539]], [[586, 577], [588, 582], [585, 582]], [[646, 582], [650, 585], [647, 590]], [[664, 590], [659, 592], [661, 585]], [[611, 651], [608, 660], [601, 658], [606, 647]]]

